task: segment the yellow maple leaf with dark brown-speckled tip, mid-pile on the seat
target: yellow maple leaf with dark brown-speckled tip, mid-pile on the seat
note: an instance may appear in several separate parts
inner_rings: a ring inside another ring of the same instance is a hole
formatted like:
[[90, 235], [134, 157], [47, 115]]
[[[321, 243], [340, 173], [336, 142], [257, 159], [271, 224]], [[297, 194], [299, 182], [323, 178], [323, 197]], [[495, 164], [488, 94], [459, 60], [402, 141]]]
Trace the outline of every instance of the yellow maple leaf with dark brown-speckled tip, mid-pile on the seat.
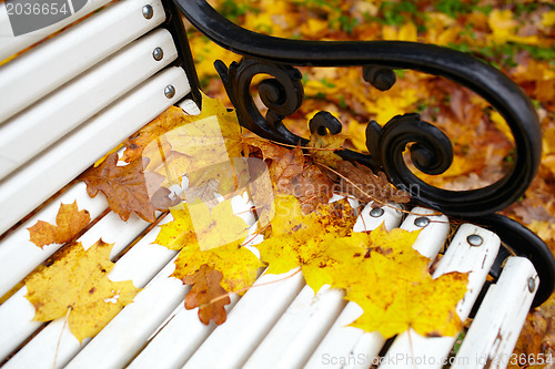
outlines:
[[303, 214], [294, 196], [278, 195], [272, 233], [256, 245], [266, 273], [282, 274], [317, 257], [327, 240], [351, 233], [355, 216], [346, 201], [320, 204], [312, 213]]

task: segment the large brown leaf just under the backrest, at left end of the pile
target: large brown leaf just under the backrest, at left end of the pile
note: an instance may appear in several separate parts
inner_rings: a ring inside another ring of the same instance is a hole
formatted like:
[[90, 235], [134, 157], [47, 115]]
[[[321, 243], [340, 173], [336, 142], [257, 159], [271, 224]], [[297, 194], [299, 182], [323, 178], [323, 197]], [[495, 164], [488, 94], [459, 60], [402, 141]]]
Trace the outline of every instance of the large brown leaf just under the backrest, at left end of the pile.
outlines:
[[[118, 154], [113, 153], [97, 167], [89, 168], [82, 176], [82, 181], [87, 184], [89, 196], [94, 197], [102, 192], [108, 199], [110, 208], [117, 213], [122, 221], [129, 219], [132, 212], [135, 212], [145, 222], [155, 221], [155, 207], [164, 208], [171, 205], [169, 199], [169, 191], [158, 186], [158, 189], [163, 191], [162, 194], [149, 193], [143, 166], [147, 161], [139, 157], [132, 163], [118, 166]], [[157, 188], [157, 184], [163, 182], [163, 177], [154, 173], [149, 174], [149, 185], [151, 188]], [[153, 189], [151, 189], [153, 192]], [[151, 197], [157, 199], [157, 206], [151, 203]], [[164, 201], [164, 198], [167, 201]], [[164, 206], [162, 206], [164, 205]]]

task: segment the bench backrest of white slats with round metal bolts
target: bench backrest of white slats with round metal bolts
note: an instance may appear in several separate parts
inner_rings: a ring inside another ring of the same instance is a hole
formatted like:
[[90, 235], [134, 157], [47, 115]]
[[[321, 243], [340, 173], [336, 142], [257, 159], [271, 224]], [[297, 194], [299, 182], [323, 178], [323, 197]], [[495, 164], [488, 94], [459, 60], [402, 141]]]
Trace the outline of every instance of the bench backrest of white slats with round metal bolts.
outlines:
[[[164, 22], [160, 0], [110, 3], [0, 66], [0, 234], [191, 92]], [[2, 37], [0, 50], [38, 38]]]

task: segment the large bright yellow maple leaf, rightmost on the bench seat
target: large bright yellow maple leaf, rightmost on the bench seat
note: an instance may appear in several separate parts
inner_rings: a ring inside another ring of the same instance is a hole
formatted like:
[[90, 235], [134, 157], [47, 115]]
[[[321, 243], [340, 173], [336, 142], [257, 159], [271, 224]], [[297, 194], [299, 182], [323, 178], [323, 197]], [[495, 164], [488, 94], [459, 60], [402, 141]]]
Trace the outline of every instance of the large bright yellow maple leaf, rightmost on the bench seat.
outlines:
[[314, 290], [324, 284], [345, 289], [345, 299], [364, 310], [353, 327], [385, 338], [408, 328], [423, 336], [456, 336], [462, 321], [455, 309], [466, 293], [467, 274], [433, 279], [431, 260], [412, 248], [417, 235], [382, 225], [370, 234], [332, 239], [303, 267], [306, 283]]

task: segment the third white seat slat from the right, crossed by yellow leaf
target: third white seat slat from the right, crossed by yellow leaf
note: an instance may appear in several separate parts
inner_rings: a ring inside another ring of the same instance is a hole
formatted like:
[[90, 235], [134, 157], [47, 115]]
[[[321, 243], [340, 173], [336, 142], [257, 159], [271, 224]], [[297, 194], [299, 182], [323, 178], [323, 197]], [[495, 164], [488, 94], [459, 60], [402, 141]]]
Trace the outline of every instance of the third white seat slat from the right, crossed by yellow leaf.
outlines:
[[[423, 255], [435, 257], [432, 254], [438, 253], [448, 233], [447, 217], [431, 215], [434, 213], [433, 211], [421, 207], [413, 208], [411, 213], [401, 225], [401, 228], [410, 232], [421, 229], [415, 225], [415, 221], [426, 215], [431, 222], [422, 229], [413, 248]], [[364, 334], [362, 329], [346, 326], [359, 318], [362, 312], [362, 309], [356, 304], [349, 303], [343, 314], [310, 358], [306, 368], [320, 368], [323, 363], [325, 363], [326, 368], [341, 368], [343, 362], [355, 365], [359, 360], [350, 359], [354, 352], [357, 355], [354, 357], [355, 359], [359, 356], [370, 360], [375, 357], [385, 342], [382, 335], [379, 332]], [[372, 362], [362, 360], [360, 363], [370, 366]]]

